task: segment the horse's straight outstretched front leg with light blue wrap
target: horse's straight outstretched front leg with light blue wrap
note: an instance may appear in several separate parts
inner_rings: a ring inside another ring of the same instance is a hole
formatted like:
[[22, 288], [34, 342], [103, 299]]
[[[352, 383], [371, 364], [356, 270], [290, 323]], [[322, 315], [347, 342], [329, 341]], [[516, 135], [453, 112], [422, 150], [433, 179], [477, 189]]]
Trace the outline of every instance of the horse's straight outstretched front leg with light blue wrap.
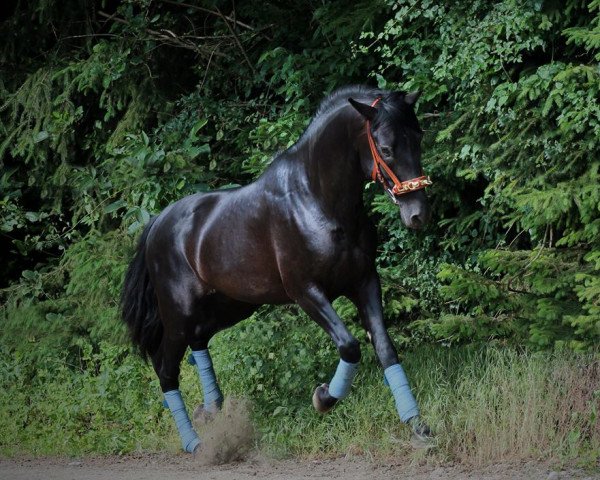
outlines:
[[373, 272], [352, 296], [364, 328], [367, 330], [385, 379], [392, 390], [400, 419], [411, 426], [419, 440], [431, 436], [429, 427], [421, 420], [419, 407], [410, 389], [408, 378], [398, 360], [396, 348], [385, 328], [381, 304], [381, 284]]

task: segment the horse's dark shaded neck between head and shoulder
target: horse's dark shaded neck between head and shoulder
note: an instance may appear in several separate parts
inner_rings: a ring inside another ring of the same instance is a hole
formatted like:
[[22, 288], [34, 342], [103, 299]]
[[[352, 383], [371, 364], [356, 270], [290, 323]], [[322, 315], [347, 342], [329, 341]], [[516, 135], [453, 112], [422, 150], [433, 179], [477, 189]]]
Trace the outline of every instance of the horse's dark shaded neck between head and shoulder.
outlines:
[[[350, 122], [350, 124], [349, 124]], [[342, 109], [324, 119], [304, 145], [303, 156], [308, 185], [317, 201], [336, 216], [356, 218], [362, 206], [365, 183], [360, 170], [357, 139], [360, 121]]]

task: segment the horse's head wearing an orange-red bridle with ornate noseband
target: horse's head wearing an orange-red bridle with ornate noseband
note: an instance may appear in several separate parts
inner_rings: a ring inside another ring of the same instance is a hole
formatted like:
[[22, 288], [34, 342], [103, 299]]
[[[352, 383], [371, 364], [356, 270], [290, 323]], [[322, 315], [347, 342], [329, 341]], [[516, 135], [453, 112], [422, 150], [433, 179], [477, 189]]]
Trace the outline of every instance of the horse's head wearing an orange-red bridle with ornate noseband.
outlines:
[[389, 92], [371, 105], [348, 99], [367, 120], [371, 148], [361, 158], [363, 170], [383, 183], [400, 206], [404, 224], [415, 229], [431, 217], [422, 191], [430, 182], [421, 168], [423, 131], [414, 111], [418, 98], [418, 92]]

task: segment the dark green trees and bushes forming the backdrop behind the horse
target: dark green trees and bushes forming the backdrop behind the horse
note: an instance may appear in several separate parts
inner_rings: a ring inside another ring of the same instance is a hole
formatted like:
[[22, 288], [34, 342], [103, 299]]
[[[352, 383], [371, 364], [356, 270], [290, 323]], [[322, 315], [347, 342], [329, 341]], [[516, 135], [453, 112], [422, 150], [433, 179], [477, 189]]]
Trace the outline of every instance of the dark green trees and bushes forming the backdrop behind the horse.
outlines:
[[[396, 344], [598, 345], [598, 0], [34, 0], [2, 15], [0, 381], [3, 405], [22, 404], [5, 450], [139, 446], [160, 415], [118, 318], [136, 234], [184, 195], [251, 182], [350, 83], [423, 92], [430, 226], [406, 230], [365, 191]], [[335, 358], [293, 307], [214, 351], [226, 386], [274, 417]], [[80, 398], [50, 408], [40, 389]], [[129, 433], [86, 440], [124, 404], [140, 412]]]

